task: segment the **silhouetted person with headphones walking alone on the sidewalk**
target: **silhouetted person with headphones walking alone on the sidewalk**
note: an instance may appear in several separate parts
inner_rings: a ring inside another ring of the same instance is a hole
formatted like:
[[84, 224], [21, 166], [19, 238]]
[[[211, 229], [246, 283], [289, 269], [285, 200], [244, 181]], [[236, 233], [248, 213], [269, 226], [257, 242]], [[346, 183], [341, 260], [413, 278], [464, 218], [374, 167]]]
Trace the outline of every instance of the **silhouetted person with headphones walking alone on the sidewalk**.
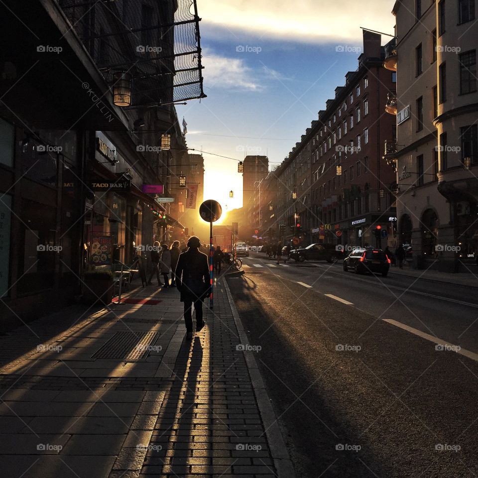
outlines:
[[179, 256], [174, 274], [176, 287], [181, 293], [180, 300], [184, 303], [184, 321], [186, 323], [186, 338], [193, 338], [192, 306], [196, 312], [196, 332], [205, 326], [203, 319], [203, 301], [211, 293], [208, 257], [199, 251], [201, 242], [196, 236], [188, 240], [189, 249]]

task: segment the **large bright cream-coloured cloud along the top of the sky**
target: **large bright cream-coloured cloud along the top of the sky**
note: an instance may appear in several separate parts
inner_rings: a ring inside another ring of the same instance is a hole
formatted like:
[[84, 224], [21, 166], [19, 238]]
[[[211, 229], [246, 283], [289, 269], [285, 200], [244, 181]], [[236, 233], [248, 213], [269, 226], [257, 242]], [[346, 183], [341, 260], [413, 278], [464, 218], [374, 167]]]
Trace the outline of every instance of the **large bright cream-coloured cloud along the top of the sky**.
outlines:
[[393, 33], [394, 0], [199, 0], [204, 22], [311, 43], [357, 40], [360, 26]]

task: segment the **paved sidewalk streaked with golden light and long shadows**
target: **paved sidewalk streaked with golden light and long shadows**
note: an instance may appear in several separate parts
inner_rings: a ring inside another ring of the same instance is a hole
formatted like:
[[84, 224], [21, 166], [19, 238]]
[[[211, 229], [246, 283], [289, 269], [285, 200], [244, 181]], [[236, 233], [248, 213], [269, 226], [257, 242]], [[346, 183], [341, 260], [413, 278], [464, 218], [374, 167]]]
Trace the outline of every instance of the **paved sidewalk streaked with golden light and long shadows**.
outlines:
[[175, 289], [123, 299], [0, 339], [2, 476], [292, 478], [225, 281], [192, 342]]

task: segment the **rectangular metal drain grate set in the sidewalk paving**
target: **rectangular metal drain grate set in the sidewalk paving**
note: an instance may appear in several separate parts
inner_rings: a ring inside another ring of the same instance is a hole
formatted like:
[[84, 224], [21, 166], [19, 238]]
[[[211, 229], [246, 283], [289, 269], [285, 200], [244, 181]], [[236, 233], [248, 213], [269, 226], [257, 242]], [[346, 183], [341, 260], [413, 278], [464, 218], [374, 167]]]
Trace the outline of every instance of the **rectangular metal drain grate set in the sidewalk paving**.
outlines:
[[144, 359], [159, 337], [157, 332], [117, 332], [98, 349], [92, 359]]

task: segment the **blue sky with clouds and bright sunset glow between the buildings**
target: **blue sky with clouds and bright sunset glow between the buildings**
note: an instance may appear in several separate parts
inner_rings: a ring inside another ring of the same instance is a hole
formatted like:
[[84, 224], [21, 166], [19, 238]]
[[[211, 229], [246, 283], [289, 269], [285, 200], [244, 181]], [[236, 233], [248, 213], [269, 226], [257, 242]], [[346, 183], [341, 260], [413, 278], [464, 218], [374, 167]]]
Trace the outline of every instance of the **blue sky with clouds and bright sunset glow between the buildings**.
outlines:
[[272, 166], [289, 154], [357, 69], [360, 27], [393, 34], [394, 3], [197, 0], [208, 97], [177, 111], [188, 147], [203, 151], [204, 199], [225, 211], [242, 206], [239, 160], [267, 155]]

